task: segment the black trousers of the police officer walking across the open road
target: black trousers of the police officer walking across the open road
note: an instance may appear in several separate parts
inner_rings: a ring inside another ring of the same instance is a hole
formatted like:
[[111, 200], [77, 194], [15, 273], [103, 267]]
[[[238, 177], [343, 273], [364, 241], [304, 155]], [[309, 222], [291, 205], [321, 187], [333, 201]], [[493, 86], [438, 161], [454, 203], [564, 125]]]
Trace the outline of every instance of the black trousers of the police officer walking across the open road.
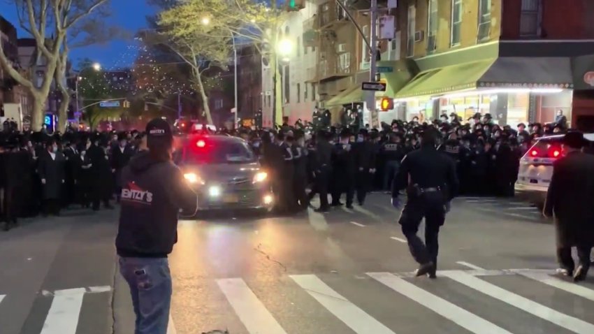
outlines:
[[[409, 198], [400, 216], [400, 225], [405, 235], [410, 254], [419, 264], [433, 262], [437, 267], [440, 227], [445, 222], [443, 195], [440, 192]], [[425, 218], [425, 243], [416, 233]]]

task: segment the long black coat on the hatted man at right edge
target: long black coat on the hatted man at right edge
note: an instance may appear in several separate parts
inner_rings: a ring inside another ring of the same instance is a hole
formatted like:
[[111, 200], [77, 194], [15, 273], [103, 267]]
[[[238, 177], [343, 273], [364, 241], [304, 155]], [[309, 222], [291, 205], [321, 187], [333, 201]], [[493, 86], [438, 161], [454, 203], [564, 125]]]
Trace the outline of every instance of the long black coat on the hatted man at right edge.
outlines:
[[594, 245], [594, 156], [570, 152], [553, 166], [544, 213], [555, 215], [558, 247]]

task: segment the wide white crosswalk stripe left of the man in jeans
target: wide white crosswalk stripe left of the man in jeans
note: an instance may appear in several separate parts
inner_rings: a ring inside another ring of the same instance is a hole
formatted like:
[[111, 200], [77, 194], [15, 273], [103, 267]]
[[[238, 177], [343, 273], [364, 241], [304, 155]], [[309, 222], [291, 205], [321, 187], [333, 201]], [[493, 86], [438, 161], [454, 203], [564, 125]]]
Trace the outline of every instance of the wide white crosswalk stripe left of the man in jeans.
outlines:
[[75, 334], [85, 288], [57, 290], [41, 334]]

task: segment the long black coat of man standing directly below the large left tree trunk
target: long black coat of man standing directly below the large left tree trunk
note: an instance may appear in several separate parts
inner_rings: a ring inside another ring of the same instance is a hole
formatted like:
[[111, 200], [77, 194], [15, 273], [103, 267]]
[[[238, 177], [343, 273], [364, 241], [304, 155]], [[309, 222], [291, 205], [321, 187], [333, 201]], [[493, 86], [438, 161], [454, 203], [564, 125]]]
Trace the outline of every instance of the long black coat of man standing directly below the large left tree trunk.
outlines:
[[37, 173], [43, 184], [43, 199], [59, 199], [61, 197], [62, 184], [64, 182], [64, 155], [56, 152], [56, 158], [52, 159], [50, 152], [44, 151], [39, 157]]

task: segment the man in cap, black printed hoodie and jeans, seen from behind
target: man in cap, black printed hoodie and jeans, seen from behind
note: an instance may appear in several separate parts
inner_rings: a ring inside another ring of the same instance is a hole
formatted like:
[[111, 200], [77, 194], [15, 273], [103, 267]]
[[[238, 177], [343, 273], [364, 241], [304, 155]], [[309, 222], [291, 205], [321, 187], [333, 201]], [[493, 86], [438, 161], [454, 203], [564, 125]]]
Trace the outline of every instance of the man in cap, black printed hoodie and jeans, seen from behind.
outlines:
[[196, 212], [196, 194], [171, 161], [173, 133], [163, 119], [146, 128], [147, 152], [122, 170], [122, 208], [115, 246], [130, 286], [136, 334], [166, 334], [171, 305], [167, 261], [178, 240], [178, 212]]

